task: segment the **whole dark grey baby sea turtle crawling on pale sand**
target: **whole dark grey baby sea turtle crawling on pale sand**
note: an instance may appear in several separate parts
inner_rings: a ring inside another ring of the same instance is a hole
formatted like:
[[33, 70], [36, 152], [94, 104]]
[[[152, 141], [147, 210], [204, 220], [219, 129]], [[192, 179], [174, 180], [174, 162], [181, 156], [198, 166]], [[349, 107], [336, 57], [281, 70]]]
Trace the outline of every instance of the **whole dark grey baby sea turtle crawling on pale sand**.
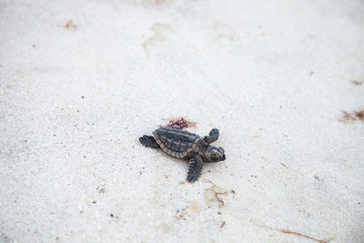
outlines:
[[139, 138], [142, 145], [162, 148], [172, 157], [189, 159], [187, 180], [194, 182], [201, 174], [204, 162], [218, 162], [225, 160], [222, 147], [211, 146], [218, 138], [218, 129], [214, 128], [204, 138], [197, 134], [181, 130], [179, 127], [161, 127], [152, 136]]

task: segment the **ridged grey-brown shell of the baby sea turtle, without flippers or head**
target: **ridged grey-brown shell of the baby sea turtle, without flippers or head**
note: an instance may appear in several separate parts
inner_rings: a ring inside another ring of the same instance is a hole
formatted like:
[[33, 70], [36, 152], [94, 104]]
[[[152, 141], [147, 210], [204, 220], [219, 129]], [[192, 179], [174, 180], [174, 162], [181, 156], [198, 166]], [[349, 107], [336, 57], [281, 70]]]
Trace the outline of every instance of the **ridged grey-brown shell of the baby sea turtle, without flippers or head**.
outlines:
[[200, 137], [197, 134], [182, 131], [177, 127], [161, 127], [153, 132], [157, 144], [172, 157], [186, 157], [195, 149]]

